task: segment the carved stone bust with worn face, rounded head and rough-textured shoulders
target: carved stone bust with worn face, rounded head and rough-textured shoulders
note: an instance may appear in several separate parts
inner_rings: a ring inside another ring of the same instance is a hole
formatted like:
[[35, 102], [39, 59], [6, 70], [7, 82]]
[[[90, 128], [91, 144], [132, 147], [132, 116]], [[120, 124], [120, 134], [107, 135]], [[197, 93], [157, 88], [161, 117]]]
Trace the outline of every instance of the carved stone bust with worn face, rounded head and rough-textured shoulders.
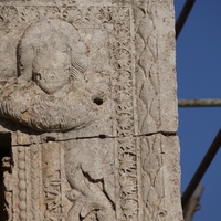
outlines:
[[0, 115], [33, 129], [78, 129], [93, 119], [85, 90], [87, 48], [74, 27], [48, 19], [31, 24], [18, 45], [18, 77], [0, 92]]

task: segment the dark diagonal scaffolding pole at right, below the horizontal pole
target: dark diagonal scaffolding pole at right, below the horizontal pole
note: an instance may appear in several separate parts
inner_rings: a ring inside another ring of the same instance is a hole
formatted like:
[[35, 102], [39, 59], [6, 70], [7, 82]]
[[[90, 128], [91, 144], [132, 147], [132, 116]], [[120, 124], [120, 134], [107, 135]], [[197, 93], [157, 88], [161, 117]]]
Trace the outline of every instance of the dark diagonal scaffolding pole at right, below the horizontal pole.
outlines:
[[201, 161], [194, 176], [192, 177], [190, 183], [188, 185], [187, 189], [185, 190], [182, 194], [181, 202], [182, 202], [183, 210], [186, 209], [192, 193], [197, 189], [197, 186], [199, 185], [200, 180], [202, 179], [203, 175], [209, 168], [211, 161], [213, 160], [214, 156], [220, 149], [220, 146], [221, 146], [221, 129], [219, 130], [217, 137], [214, 138], [212, 145], [210, 146], [208, 152], [206, 154], [203, 160]]

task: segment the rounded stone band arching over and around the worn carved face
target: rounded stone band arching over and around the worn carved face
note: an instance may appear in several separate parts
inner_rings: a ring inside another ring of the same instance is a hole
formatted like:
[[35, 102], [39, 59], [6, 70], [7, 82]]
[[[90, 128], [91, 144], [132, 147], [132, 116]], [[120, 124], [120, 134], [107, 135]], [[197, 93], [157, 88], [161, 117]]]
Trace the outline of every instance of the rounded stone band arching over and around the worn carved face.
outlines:
[[60, 35], [71, 49], [71, 75], [74, 78], [83, 75], [87, 69], [88, 50], [80, 39], [77, 30], [66, 21], [46, 19], [31, 24], [19, 42], [17, 52], [19, 78], [27, 81], [32, 78], [32, 61], [38, 53], [38, 46], [46, 46], [53, 35]]

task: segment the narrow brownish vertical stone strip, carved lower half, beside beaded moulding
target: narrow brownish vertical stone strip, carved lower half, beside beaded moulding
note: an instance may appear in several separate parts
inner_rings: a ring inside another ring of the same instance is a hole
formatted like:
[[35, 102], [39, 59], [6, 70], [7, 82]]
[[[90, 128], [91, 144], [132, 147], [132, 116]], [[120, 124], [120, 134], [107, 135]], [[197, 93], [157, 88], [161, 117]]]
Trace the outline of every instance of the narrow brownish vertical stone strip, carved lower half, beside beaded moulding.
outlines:
[[[61, 145], [48, 143], [42, 145], [42, 181], [44, 199], [44, 220], [62, 220], [63, 217], [63, 183], [61, 171]], [[53, 159], [53, 160], [52, 160]], [[72, 162], [73, 164], [73, 162]], [[38, 219], [35, 219], [38, 220]]]

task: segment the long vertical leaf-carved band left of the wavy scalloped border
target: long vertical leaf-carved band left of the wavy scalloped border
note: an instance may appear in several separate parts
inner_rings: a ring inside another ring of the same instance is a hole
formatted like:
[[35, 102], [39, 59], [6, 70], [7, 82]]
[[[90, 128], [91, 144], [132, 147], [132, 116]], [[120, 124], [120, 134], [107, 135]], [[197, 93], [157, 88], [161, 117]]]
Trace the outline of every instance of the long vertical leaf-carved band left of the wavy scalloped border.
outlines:
[[134, 125], [133, 45], [129, 8], [117, 8], [115, 13], [112, 62], [116, 74], [114, 82], [115, 115], [117, 118], [117, 151], [119, 164], [120, 220], [138, 219], [137, 149]]

